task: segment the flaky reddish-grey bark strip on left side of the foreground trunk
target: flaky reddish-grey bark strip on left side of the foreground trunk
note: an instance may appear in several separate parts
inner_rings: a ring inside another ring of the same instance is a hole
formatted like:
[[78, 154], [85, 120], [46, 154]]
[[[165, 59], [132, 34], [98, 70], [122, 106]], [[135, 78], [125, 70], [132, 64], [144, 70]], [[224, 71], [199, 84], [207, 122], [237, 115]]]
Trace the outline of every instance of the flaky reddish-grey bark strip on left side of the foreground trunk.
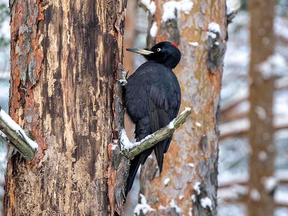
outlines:
[[40, 110], [34, 88], [39, 81], [43, 49], [38, 46], [38, 22], [44, 19], [40, 0], [10, 1], [11, 11], [11, 79], [9, 114], [11, 118], [33, 135], [39, 144], [37, 159], [43, 157], [46, 143], [39, 131]]

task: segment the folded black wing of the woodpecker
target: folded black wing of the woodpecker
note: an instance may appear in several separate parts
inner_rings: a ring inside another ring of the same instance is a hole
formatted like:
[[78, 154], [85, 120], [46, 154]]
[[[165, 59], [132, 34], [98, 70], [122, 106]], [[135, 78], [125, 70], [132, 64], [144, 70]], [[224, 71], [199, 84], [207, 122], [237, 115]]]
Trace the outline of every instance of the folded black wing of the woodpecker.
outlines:
[[[155, 72], [155, 71], [154, 71]], [[161, 74], [164, 76], [161, 77]], [[163, 128], [176, 118], [181, 100], [178, 80], [172, 71], [154, 73], [148, 86], [148, 113], [151, 131]], [[159, 171], [162, 171], [164, 153], [167, 152], [172, 135], [155, 145], [155, 155]]]

